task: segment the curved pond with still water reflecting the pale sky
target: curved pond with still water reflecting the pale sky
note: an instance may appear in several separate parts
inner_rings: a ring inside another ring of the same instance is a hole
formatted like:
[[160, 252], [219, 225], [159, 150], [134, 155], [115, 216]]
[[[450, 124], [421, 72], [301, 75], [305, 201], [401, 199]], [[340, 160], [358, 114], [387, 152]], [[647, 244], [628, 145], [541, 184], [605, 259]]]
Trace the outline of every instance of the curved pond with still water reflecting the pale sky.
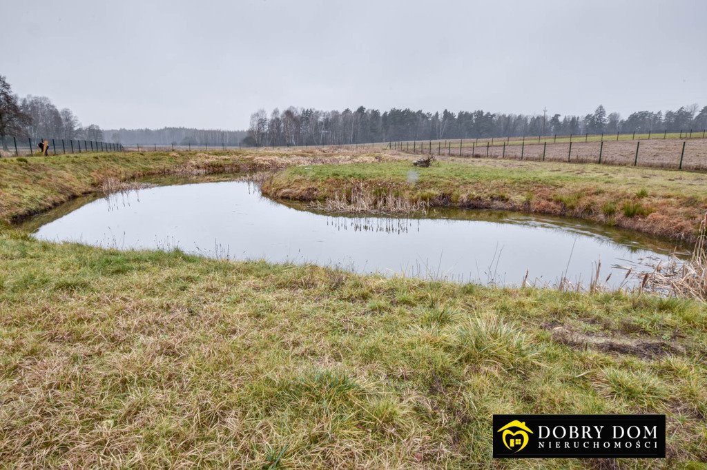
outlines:
[[[78, 206], [78, 208], [74, 208]], [[106, 248], [180, 248], [210, 258], [314, 263], [456, 282], [621, 287], [625, 270], [674, 246], [630, 231], [508, 212], [435, 210], [425, 218], [330, 215], [263, 198], [242, 181], [158, 186], [75, 204], [37, 239]], [[66, 211], [64, 211], [66, 212]], [[56, 217], [56, 216], [55, 216]]]

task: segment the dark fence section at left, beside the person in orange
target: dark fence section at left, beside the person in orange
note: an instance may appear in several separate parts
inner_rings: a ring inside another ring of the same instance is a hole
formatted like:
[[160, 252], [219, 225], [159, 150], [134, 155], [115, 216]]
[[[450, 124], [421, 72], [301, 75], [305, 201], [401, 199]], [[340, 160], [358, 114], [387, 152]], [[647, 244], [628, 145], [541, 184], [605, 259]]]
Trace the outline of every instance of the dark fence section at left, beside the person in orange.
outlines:
[[42, 143], [47, 142], [46, 155], [66, 155], [84, 152], [122, 152], [124, 148], [118, 143], [101, 142], [98, 140], [57, 139], [28, 137], [13, 137], [6, 135], [1, 142], [1, 157], [31, 157], [40, 156], [44, 152]]

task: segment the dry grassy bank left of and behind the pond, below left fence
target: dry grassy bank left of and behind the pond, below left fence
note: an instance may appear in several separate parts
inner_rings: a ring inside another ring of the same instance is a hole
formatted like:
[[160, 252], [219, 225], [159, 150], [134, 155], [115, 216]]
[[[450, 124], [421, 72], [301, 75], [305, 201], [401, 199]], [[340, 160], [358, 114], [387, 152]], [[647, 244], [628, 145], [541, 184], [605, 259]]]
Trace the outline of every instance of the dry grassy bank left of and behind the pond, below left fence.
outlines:
[[0, 223], [51, 209], [116, 182], [163, 174], [245, 174], [298, 164], [373, 162], [386, 158], [329, 149], [226, 152], [82, 153], [0, 159]]

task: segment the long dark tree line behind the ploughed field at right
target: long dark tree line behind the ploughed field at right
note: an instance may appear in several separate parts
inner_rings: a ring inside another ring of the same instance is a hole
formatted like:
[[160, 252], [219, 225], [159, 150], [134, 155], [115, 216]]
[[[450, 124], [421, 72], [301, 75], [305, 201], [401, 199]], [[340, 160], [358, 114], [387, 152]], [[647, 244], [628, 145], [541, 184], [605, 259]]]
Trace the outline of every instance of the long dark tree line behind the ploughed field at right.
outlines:
[[346, 145], [395, 140], [520, 137], [523, 135], [568, 135], [600, 133], [677, 132], [707, 128], [707, 106], [697, 104], [675, 111], [639, 111], [623, 119], [607, 114], [602, 105], [591, 114], [504, 114], [473, 112], [423, 112], [393, 108], [358, 107], [356, 111], [320, 111], [289, 107], [270, 114], [259, 109], [250, 116], [244, 143], [254, 146]]

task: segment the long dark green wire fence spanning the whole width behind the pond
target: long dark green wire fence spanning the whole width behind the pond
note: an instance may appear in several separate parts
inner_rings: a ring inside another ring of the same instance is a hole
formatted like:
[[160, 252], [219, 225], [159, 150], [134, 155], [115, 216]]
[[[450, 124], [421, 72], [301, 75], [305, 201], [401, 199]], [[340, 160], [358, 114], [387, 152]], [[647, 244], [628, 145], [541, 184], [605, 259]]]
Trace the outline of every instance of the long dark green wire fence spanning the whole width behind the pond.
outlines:
[[[42, 139], [49, 144], [47, 155], [82, 152], [165, 152], [165, 151], [226, 151], [242, 145], [204, 144], [119, 144], [95, 140]], [[42, 150], [31, 138], [6, 136], [1, 156], [41, 155]], [[669, 133], [617, 133], [582, 135], [539, 135], [537, 137], [474, 138], [458, 140], [407, 140], [387, 143], [346, 145], [293, 145], [288, 148], [341, 148], [357, 152], [395, 150], [419, 155], [447, 155], [518, 159], [573, 163], [617, 164], [689, 170], [707, 170], [706, 131]], [[244, 147], [248, 148], [248, 147]], [[267, 148], [279, 148], [270, 147]]]

